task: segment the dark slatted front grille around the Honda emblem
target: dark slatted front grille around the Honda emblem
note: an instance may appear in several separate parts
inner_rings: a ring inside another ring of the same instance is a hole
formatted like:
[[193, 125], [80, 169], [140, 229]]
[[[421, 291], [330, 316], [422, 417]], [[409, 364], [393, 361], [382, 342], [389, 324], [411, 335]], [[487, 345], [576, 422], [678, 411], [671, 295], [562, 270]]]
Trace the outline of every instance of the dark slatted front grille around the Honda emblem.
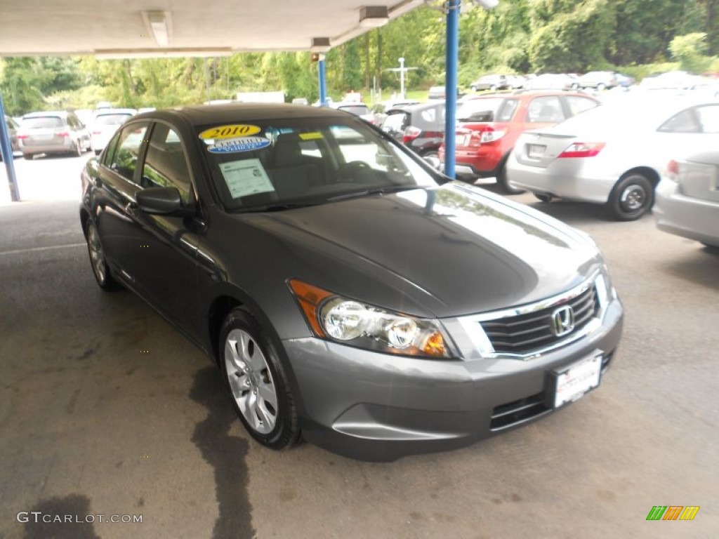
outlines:
[[[570, 333], [557, 336], [552, 328], [551, 314], [563, 305], [569, 305], [574, 310], [574, 329]], [[586, 326], [592, 318], [595, 318], [599, 309], [597, 289], [592, 286], [563, 303], [557, 303], [533, 313], [506, 316], [484, 321], [481, 324], [495, 352], [525, 354], [528, 351], [545, 348], [571, 337], [572, 334]]]

